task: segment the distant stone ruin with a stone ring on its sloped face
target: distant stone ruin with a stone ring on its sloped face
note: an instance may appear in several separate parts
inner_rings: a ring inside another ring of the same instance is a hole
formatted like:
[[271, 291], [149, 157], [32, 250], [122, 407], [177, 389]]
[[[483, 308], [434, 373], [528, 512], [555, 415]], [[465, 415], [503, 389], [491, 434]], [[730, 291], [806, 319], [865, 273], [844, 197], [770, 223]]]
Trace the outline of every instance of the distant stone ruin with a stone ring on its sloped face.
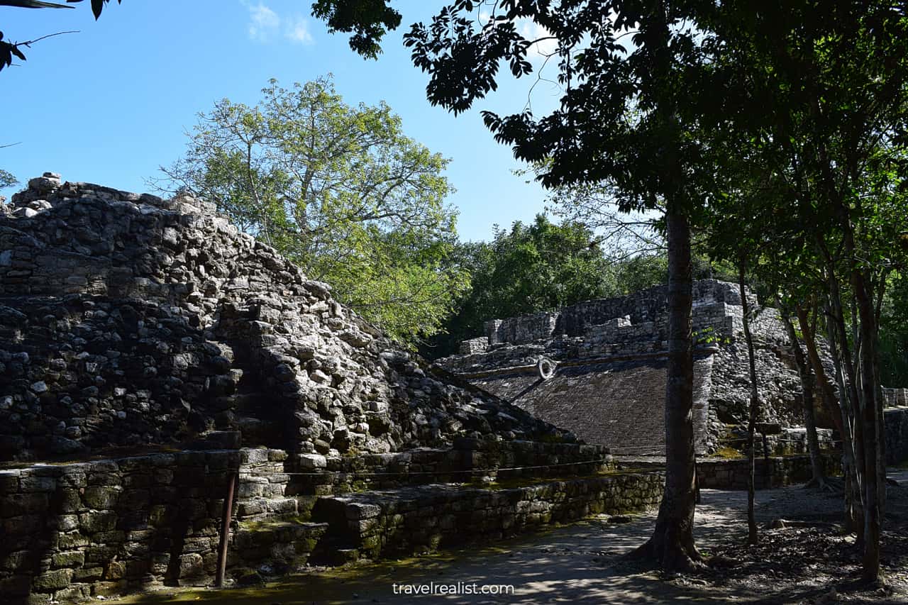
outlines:
[[[752, 322], [761, 422], [785, 429], [779, 444], [804, 451], [801, 383], [778, 312], [756, 309]], [[738, 447], [750, 377], [740, 291], [735, 283], [694, 283], [696, 451]], [[485, 324], [439, 366], [524, 410], [614, 453], [664, 455], [667, 287], [580, 302]], [[540, 361], [541, 360], [541, 361]], [[813, 402], [822, 426], [820, 402]], [[831, 431], [820, 431], [829, 441]]]

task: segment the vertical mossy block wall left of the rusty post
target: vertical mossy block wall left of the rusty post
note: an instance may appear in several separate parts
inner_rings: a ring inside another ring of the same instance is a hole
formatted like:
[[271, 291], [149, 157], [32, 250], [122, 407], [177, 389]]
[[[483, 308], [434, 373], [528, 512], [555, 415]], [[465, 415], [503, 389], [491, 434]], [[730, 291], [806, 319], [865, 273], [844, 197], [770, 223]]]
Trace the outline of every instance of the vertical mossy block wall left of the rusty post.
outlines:
[[0, 471], [0, 594], [79, 600], [204, 582], [239, 451], [155, 454]]

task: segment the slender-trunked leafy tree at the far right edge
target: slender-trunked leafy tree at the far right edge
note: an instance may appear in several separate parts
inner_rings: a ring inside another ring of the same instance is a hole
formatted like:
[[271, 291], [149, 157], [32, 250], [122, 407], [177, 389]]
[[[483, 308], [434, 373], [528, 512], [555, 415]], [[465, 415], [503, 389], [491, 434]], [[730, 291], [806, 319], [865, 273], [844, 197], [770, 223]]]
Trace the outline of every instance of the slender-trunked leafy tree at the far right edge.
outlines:
[[[793, 1], [773, 15], [720, 11], [711, 26], [717, 70], [731, 83], [730, 94], [719, 95], [730, 100], [724, 130], [749, 135], [735, 149], [754, 150], [769, 167], [767, 181], [785, 188], [793, 240], [814, 248], [824, 274], [834, 357], [855, 411], [864, 578], [877, 580], [884, 501], [877, 314], [894, 233], [904, 229], [908, 21], [891, 3]], [[755, 228], [788, 220], [764, 214]]]

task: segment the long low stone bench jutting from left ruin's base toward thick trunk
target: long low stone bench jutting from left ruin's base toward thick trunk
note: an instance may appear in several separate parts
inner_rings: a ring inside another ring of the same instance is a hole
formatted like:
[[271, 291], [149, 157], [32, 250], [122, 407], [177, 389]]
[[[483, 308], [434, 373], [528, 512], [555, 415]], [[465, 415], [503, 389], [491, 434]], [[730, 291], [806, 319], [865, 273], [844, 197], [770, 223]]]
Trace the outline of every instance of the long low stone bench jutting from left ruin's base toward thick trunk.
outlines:
[[419, 485], [325, 496], [316, 502], [312, 519], [328, 523], [325, 543], [334, 552], [369, 559], [400, 557], [480, 538], [495, 540], [602, 512], [654, 507], [663, 481], [662, 473], [649, 472], [516, 487]]

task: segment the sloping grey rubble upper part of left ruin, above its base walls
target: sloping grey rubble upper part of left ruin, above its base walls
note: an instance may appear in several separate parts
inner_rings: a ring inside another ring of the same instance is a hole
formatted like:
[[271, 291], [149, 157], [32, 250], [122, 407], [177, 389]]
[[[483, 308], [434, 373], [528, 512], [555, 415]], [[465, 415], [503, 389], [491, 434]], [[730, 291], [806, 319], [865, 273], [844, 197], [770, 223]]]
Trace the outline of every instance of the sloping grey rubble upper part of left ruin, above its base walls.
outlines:
[[[212, 429], [321, 455], [570, 436], [432, 375], [191, 197], [33, 179], [0, 216], [0, 460]], [[466, 388], [464, 388], [466, 387]]]

